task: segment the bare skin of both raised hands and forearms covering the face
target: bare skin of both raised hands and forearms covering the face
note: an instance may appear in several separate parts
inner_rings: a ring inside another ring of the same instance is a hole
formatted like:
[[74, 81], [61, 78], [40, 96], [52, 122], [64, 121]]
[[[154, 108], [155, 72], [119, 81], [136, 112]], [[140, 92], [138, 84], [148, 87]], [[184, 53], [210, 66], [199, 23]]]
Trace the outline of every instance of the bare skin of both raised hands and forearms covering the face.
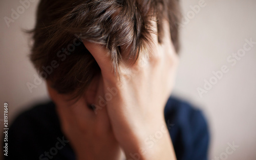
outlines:
[[[152, 24], [157, 33], [156, 21], [152, 20]], [[112, 70], [109, 51], [84, 40], [101, 74], [94, 77], [84, 96], [77, 101], [69, 101], [69, 95], [58, 94], [47, 82], [62, 130], [77, 159], [122, 159], [122, 152], [126, 159], [176, 159], [163, 112], [173, 89], [178, 57], [167, 22], [164, 22], [164, 32], [162, 44], [152, 33], [150, 49], [144, 50], [149, 57], [141, 56], [133, 65], [120, 64], [119, 78]], [[100, 97], [105, 97], [104, 105]], [[97, 112], [90, 110], [88, 104], [94, 104]], [[154, 141], [153, 146], [146, 144], [146, 138], [158, 131], [162, 131], [162, 137]]]

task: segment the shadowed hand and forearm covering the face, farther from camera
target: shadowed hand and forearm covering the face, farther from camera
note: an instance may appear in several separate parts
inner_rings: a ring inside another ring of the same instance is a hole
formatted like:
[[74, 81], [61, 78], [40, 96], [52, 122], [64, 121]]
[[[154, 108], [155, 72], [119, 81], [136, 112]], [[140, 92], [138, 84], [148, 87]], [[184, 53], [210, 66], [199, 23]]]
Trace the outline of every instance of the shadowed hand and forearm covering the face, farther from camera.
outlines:
[[103, 93], [100, 82], [100, 76], [95, 77], [86, 94], [77, 101], [70, 101], [71, 96], [58, 94], [50, 87], [50, 82], [47, 84], [50, 97], [56, 104], [62, 131], [70, 140], [77, 159], [120, 160], [121, 149], [106, 109], [95, 115], [88, 107], [88, 104], [97, 104], [97, 97]]

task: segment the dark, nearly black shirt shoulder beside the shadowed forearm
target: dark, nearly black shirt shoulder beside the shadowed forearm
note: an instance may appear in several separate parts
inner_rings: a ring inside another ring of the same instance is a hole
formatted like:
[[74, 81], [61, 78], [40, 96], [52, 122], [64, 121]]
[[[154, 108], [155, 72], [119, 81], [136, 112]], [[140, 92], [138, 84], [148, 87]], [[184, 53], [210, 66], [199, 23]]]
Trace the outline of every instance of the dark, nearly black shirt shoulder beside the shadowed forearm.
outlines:
[[51, 151], [53, 153], [56, 151], [55, 146], [59, 144], [58, 141], [63, 139], [65, 138], [60, 129], [55, 104], [53, 102], [37, 104], [21, 113], [11, 124], [8, 130], [6, 159], [66, 159], [62, 157], [66, 154], [64, 152], [73, 154], [69, 144], [63, 144], [66, 147], [57, 150], [56, 156], [51, 155]]

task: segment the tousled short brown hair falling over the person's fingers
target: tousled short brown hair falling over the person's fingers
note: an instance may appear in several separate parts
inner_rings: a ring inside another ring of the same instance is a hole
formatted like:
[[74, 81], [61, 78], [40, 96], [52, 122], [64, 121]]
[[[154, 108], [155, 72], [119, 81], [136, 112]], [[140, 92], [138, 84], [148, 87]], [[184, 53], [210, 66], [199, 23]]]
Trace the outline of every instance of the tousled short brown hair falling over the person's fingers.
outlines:
[[59, 93], [75, 93], [77, 97], [100, 73], [80, 40], [105, 45], [118, 72], [121, 48], [130, 46], [129, 58], [135, 62], [150, 41], [153, 16], [157, 18], [159, 42], [165, 18], [178, 52], [178, 0], [41, 0], [32, 31], [31, 61]]

